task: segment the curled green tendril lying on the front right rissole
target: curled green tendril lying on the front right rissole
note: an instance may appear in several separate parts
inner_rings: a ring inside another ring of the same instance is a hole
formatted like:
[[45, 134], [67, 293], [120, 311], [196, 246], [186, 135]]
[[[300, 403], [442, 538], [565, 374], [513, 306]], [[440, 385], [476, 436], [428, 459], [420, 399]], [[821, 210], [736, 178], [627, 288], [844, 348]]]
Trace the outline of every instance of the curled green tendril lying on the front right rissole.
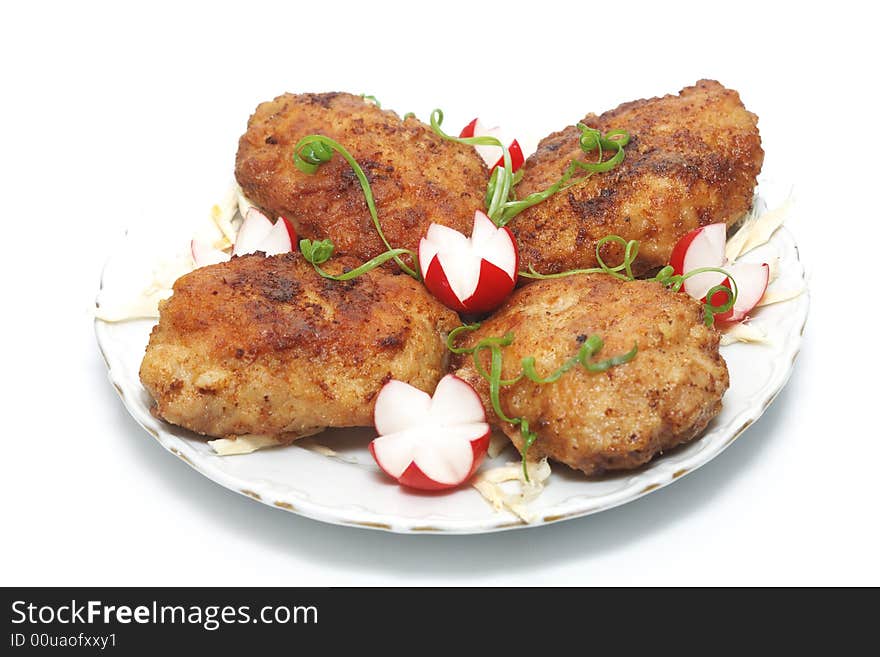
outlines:
[[[449, 348], [450, 351], [455, 354], [471, 354], [471, 357], [474, 361], [475, 369], [477, 370], [479, 375], [489, 383], [489, 399], [492, 402], [492, 409], [495, 411], [495, 415], [502, 422], [507, 422], [508, 424], [519, 427], [520, 435], [523, 439], [523, 447], [521, 453], [523, 477], [525, 481], [529, 481], [529, 471], [526, 465], [528, 451], [529, 448], [538, 439], [538, 434], [529, 429], [529, 422], [526, 418], [507, 416], [507, 414], [501, 408], [501, 388], [512, 386], [521, 381], [523, 378], [527, 378], [530, 381], [541, 385], [554, 383], [558, 381], [562, 377], [562, 375], [564, 375], [576, 365], [581, 365], [590, 372], [604, 372], [611, 367], [622, 365], [623, 363], [632, 360], [638, 353], [638, 344], [635, 344], [633, 345], [633, 348], [625, 354], [620, 354], [618, 356], [614, 356], [603, 361], [593, 361], [593, 356], [595, 356], [602, 349], [602, 347], [604, 346], [604, 342], [602, 341], [602, 338], [600, 338], [598, 335], [591, 335], [589, 338], [584, 340], [584, 343], [581, 345], [577, 354], [569, 358], [567, 361], [565, 361], [565, 363], [562, 364], [561, 367], [557, 368], [546, 377], [542, 377], [535, 369], [535, 357], [527, 356], [522, 359], [521, 370], [517, 376], [513, 377], [512, 379], [502, 379], [501, 372], [504, 365], [504, 355], [502, 353], [502, 348], [513, 343], [514, 335], [513, 333], [506, 333], [505, 335], [500, 337], [493, 336], [483, 338], [482, 340], [477, 342], [476, 345], [470, 348], [455, 346], [455, 339], [460, 333], [463, 333], [465, 331], [475, 331], [478, 328], [480, 328], [479, 323], [465, 324], [463, 326], [459, 326], [458, 328], [453, 329], [452, 331], [450, 331], [449, 336], [446, 338], [446, 346]], [[484, 351], [489, 351], [488, 372], [483, 365], [481, 357], [481, 354]]]

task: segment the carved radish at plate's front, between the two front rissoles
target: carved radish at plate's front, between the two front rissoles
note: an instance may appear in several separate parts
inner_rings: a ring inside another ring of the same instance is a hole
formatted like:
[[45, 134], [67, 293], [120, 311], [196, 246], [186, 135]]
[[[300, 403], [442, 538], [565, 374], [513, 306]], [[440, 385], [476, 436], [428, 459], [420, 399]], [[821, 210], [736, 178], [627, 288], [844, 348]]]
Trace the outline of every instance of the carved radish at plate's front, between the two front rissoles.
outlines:
[[370, 453], [388, 476], [421, 490], [454, 488], [473, 475], [489, 448], [486, 411], [477, 392], [454, 374], [434, 396], [392, 379], [376, 397], [379, 437]]

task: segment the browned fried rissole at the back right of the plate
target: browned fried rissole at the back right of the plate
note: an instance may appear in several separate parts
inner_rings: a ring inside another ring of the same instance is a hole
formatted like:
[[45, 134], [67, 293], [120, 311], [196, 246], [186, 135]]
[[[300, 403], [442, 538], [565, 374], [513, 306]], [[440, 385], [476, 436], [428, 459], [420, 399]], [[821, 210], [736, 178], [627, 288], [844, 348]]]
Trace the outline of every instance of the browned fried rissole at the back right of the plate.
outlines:
[[[540, 273], [595, 267], [596, 242], [620, 235], [641, 242], [633, 266], [643, 275], [669, 262], [680, 237], [707, 224], [740, 220], [749, 210], [764, 161], [758, 118], [737, 92], [701, 80], [677, 96], [624, 103], [581, 121], [601, 130], [630, 133], [626, 157], [616, 168], [593, 176], [533, 206], [511, 223], [523, 268]], [[517, 195], [525, 197], [556, 182], [584, 154], [580, 131], [569, 126], [545, 137], [523, 167]], [[615, 244], [602, 258], [623, 257]]]

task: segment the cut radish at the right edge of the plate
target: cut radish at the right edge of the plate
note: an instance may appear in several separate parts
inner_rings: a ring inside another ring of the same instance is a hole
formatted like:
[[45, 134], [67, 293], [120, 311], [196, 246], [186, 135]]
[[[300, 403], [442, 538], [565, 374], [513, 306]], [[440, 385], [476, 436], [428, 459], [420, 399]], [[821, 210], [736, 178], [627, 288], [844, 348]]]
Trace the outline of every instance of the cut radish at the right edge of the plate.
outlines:
[[[715, 321], [721, 324], [733, 324], [745, 319], [761, 301], [770, 283], [770, 267], [766, 263], [728, 263], [724, 257], [726, 244], [726, 224], [710, 224], [697, 228], [676, 243], [669, 264], [679, 275], [701, 267], [718, 267], [729, 273], [736, 282], [736, 301], [730, 310], [716, 315]], [[682, 288], [694, 299], [705, 303], [709, 290], [716, 285], [732, 288], [730, 279], [719, 272], [695, 274], [685, 280]], [[722, 292], [716, 293], [712, 299], [712, 303], [716, 305], [721, 305], [725, 301]]]

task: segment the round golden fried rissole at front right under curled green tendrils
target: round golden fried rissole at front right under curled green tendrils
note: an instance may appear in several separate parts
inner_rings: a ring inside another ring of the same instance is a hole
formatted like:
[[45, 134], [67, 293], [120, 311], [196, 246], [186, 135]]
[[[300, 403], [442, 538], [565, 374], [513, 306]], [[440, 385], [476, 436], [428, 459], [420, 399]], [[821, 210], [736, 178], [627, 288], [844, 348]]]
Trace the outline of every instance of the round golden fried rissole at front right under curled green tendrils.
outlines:
[[[721, 410], [729, 380], [718, 332], [704, 324], [698, 302], [654, 281], [595, 274], [536, 282], [458, 344], [473, 347], [508, 331], [515, 338], [502, 352], [505, 379], [519, 373], [527, 356], [547, 376], [594, 334], [604, 340], [594, 360], [638, 344], [635, 358], [604, 372], [578, 365], [555, 383], [522, 379], [501, 388], [504, 413], [525, 417], [538, 434], [530, 459], [548, 456], [588, 475], [635, 468], [695, 438]], [[455, 365], [491, 414], [489, 386], [472, 357], [458, 356]], [[519, 429], [494, 420], [522, 449]]]

